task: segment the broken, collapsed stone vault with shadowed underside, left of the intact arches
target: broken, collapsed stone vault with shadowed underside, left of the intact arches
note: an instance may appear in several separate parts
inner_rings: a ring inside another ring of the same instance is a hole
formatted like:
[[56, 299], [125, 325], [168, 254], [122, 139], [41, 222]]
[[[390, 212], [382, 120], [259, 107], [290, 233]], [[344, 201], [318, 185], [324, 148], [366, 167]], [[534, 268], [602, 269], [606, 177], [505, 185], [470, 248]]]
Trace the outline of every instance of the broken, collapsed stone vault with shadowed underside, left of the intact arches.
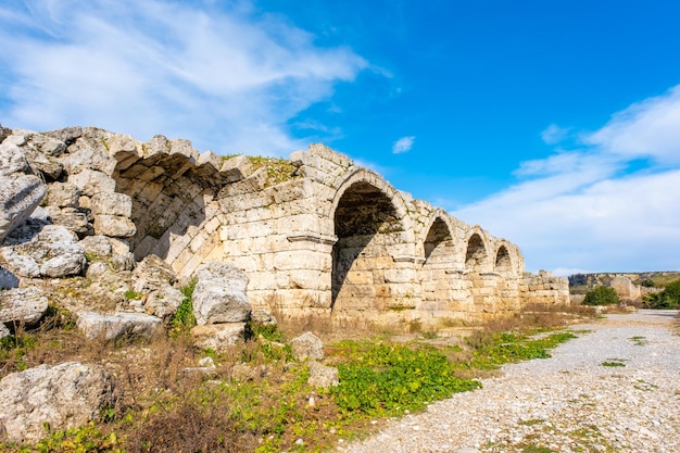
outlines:
[[137, 231], [129, 238], [130, 251], [137, 260], [155, 254], [175, 272], [191, 274], [218, 250], [213, 217], [224, 178], [215, 163], [187, 140], [163, 136], [114, 156], [115, 190], [133, 201]]

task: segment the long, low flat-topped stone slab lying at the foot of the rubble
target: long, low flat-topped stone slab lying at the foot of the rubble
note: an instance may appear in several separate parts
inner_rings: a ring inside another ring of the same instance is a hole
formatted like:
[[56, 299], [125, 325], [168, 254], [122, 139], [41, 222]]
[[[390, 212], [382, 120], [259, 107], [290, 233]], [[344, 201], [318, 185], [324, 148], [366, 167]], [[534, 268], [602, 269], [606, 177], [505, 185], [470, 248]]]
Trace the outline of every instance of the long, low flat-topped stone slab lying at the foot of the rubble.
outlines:
[[163, 329], [161, 318], [143, 313], [119, 312], [111, 315], [80, 312], [76, 327], [89, 340], [121, 341], [150, 339]]

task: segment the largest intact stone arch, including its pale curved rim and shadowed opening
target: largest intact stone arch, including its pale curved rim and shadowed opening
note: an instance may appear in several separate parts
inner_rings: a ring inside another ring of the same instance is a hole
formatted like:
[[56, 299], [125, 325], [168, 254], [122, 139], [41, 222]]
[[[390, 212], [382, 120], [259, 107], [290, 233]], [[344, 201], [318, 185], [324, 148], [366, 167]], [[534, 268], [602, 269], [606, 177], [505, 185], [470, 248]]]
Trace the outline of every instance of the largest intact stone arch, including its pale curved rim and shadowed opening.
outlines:
[[[403, 295], [390, 276], [413, 257], [413, 229], [403, 199], [373, 172], [360, 169], [338, 189], [330, 210], [331, 311], [381, 311]], [[405, 249], [406, 248], [406, 249]], [[410, 253], [411, 252], [411, 253]]]

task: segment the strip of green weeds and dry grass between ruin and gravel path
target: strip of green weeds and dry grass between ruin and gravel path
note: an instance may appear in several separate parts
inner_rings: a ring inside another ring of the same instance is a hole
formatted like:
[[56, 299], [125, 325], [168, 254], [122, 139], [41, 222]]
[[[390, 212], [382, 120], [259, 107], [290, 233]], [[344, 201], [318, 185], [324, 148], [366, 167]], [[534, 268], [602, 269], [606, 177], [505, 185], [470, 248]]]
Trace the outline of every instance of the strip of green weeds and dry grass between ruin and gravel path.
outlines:
[[[338, 368], [340, 385], [320, 389], [307, 383], [308, 367], [292, 360], [287, 335], [273, 325], [249, 323], [250, 338], [226, 351], [194, 349], [187, 335], [194, 324], [194, 285], [181, 289], [185, 299], [169, 322], [171, 335], [139, 351], [86, 340], [66, 329], [66, 322], [2, 340], [0, 377], [40, 363], [105, 362], [122, 393], [115, 408], [85, 427], [46, 427], [37, 444], [0, 442], [0, 451], [326, 451], [340, 439], [367, 432], [377, 418], [479, 388], [475, 377], [504, 363], [549, 357], [551, 348], [575, 337], [536, 324], [521, 328], [518, 317], [515, 324], [488, 325], [459, 344], [430, 344], [430, 336], [407, 342], [388, 336], [344, 340], [326, 347], [326, 363]], [[53, 318], [65, 319], [56, 310]], [[216, 363], [210, 374], [187, 373], [206, 355]]]

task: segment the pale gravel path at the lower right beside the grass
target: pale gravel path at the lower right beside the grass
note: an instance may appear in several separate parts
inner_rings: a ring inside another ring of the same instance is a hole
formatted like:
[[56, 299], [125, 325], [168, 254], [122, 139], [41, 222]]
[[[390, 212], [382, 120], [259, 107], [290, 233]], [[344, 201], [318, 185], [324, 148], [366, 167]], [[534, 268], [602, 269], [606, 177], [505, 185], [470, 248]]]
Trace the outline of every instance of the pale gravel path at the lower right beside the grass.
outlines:
[[[552, 358], [392, 420], [339, 452], [680, 452], [677, 311], [608, 315]], [[619, 363], [625, 366], [604, 366]]]

